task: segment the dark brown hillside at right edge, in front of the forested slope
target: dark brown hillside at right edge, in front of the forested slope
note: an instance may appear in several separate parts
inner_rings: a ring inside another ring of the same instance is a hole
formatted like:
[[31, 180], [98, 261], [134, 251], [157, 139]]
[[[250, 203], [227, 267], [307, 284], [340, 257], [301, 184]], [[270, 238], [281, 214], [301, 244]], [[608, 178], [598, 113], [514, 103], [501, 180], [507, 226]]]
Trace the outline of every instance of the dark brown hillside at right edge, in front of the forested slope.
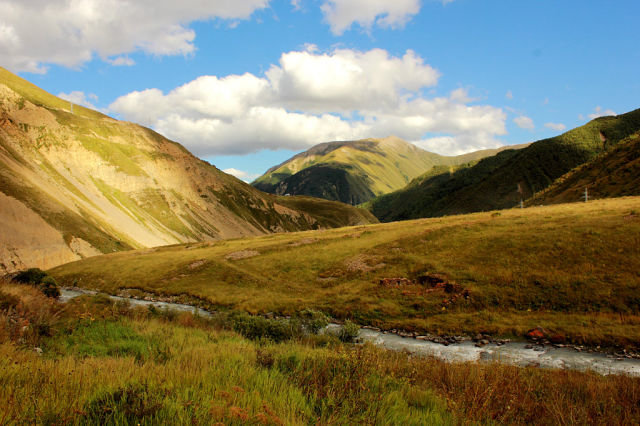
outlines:
[[640, 134], [635, 134], [558, 178], [526, 205], [569, 203], [589, 199], [640, 195]]

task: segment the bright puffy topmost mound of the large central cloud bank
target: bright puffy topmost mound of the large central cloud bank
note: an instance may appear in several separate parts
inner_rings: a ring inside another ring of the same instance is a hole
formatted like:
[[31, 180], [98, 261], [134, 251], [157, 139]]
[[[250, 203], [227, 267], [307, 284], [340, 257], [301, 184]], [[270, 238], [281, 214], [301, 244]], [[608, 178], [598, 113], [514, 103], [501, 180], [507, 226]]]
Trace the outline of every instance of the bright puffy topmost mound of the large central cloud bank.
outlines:
[[440, 73], [408, 50], [337, 49], [317, 53], [315, 46], [285, 53], [266, 73], [279, 99], [293, 109], [314, 112], [363, 109], [373, 103], [395, 106], [405, 91], [435, 86]]

